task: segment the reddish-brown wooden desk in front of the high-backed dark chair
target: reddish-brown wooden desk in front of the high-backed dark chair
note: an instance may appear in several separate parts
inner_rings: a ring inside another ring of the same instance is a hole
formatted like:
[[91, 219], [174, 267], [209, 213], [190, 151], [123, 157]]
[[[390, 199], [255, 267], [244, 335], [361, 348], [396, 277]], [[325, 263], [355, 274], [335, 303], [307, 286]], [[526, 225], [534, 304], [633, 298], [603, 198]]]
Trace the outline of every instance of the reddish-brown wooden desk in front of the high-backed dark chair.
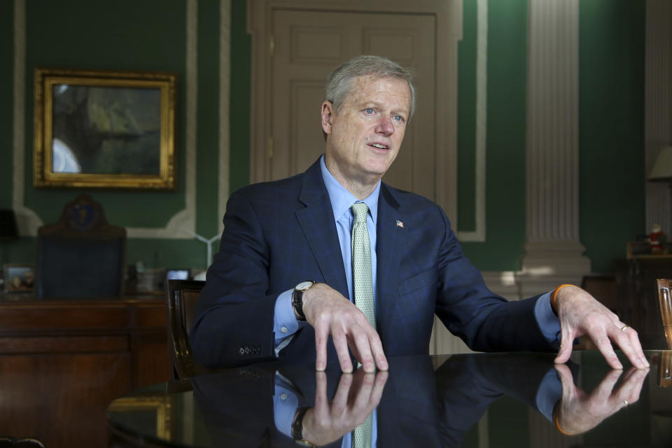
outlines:
[[165, 300], [0, 301], [0, 435], [104, 447], [106, 407], [170, 376]]

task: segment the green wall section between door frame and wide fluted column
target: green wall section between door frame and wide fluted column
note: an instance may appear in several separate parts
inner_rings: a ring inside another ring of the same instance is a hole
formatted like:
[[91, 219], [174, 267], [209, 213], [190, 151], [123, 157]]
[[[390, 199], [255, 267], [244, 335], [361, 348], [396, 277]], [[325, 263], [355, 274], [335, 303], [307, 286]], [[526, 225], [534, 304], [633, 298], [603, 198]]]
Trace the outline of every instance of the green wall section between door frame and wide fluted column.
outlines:
[[[458, 230], [473, 230], [475, 120], [475, 0], [464, 0], [464, 34], [458, 44]], [[465, 242], [465, 254], [486, 271], [517, 270], [525, 243], [525, 133], [527, 1], [488, 4], [486, 120], [486, 242]], [[468, 86], [467, 92], [462, 90]], [[471, 110], [473, 108], [473, 110]], [[470, 216], [471, 210], [471, 216]], [[470, 225], [464, 225], [469, 223]]]

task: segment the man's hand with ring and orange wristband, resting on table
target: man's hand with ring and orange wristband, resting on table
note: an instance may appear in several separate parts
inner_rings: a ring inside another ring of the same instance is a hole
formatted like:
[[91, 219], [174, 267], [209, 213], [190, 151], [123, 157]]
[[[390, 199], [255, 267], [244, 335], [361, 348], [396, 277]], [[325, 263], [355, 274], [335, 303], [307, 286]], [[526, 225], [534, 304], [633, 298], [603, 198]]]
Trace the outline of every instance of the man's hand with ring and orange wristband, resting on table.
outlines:
[[561, 288], [556, 295], [556, 308], [562, 332], [556, 363], [565, 363], [569, 359], [575, 338], [588, 335], [612, 369], [622, 369], [623, 365], [611, 341], [619, 346], [632, 365], [640, 369], [649, 367], [637, 332], [586, 291], [576, 286]]

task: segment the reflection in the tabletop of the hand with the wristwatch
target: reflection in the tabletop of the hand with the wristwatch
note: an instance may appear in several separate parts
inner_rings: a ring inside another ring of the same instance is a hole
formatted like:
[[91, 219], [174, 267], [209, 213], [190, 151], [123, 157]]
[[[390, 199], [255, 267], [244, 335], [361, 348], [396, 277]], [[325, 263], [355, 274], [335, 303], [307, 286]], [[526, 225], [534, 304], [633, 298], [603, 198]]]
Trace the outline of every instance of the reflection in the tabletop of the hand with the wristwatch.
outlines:
[[302, 436], [316, 445], [333, 442], [363, 423], [380, 402], [387, 372], [344, 373], [332, 402], [327, 400], [327, 375], [316, 372], [315, 407], [303, 418]]

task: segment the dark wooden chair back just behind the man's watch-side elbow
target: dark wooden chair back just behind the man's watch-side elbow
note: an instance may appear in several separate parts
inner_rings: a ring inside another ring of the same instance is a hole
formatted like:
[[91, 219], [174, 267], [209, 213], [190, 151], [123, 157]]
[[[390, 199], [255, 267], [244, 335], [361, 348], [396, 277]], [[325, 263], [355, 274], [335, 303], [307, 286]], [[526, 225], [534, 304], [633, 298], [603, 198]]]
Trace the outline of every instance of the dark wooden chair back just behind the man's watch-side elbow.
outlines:
[[168, 281], [168, 339], [173, 370], [179, 379], [209, 372], [193, 360], [189, 345], [194, 309], [204, 285], [204, 281], [197, 280]]

